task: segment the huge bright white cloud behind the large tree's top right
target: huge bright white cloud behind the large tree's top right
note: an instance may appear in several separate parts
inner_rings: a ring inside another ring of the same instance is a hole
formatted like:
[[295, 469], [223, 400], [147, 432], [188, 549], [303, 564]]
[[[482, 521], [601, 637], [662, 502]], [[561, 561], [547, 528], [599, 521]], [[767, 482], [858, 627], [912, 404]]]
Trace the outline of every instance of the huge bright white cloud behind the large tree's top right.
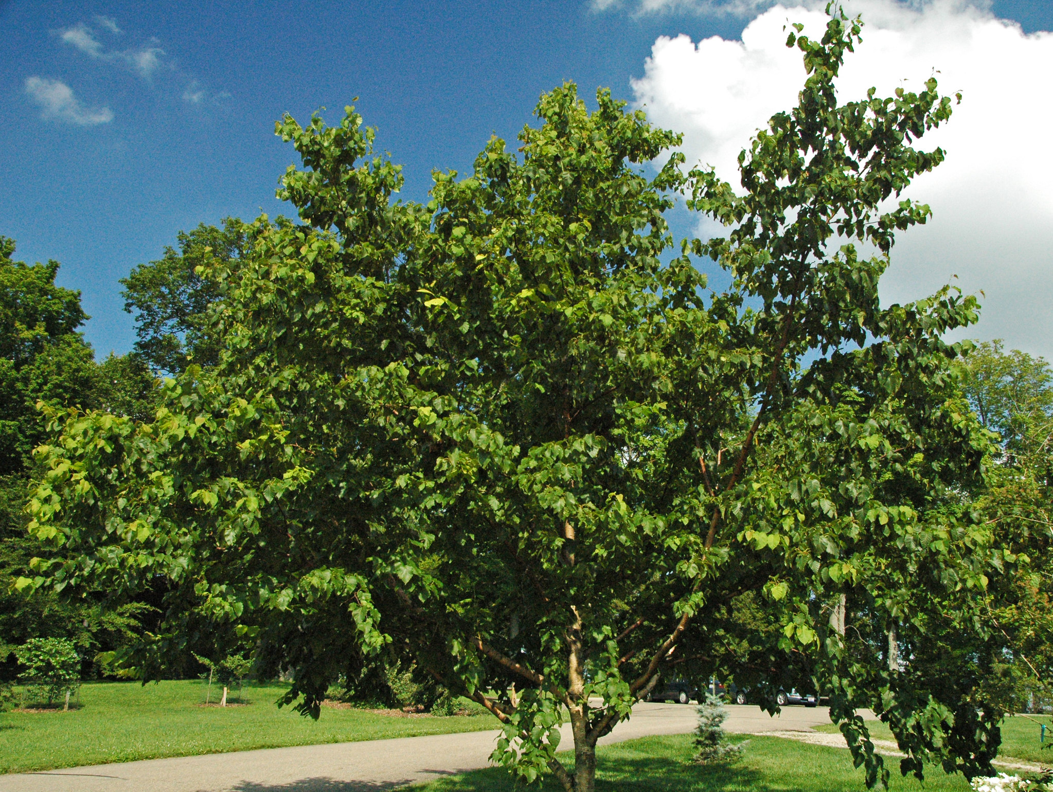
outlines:
[[[654, 7], [672, 1], [641, 0]], [[689, 164], [712, 164], [738, 184], [738, 152], [770, 116], [796, 103], [804, 79], [800, 52], [786, 47], [784, 25], [801, 22], [815, 36], [826, 24], [826, 3], [806, 3], [766, 11], [740, 40], [655, 42], [633, 88], [653, 122], [684, 133]], [[862, 13], [865, 27], [838, 79], [842, 101], [863, 98], [871, 85], [879, 95], [919, 90], [932, 75], [943, 93], [963, 95], [951, 121], [920, 141], [941, 146], [947, 160], [905, 193], [929, 203], [933, 217], [900, 234], [882, 299], [915, 299], [957, 275], [963, 291], [986, 293], [980, 324], [969, 335], [1053, 357], [1053, 147], [1046, 141], [1053, 35], [1025, 35], [986, 6], [956, 0], [846, 6]]]

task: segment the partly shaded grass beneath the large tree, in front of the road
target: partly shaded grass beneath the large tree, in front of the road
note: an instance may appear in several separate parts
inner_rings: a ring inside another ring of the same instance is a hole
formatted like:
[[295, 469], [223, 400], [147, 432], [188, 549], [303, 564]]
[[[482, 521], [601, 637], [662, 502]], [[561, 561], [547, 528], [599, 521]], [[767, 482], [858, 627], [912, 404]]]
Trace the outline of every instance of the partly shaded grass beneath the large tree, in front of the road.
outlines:
[[[863, 792], [862, 770], [849, 752], [778, 737], [751, 737], [742, 758], [730, 766], [688, 764], [693, 737], [642, 737], [605, 746], [597, 752], [597, 792]], [[571, 756], [562, 756], [568, 766]], [[925, 787], [899, 775], [899, 763], [886, 759], [893, 792], [968, 792], [960, 775], [939, 768], [926, 773]], [[520, 792], [508, 771], [493, 768], [443, 777], [414, 792]], [[561, 792], [552, 778], [538, 792]]]

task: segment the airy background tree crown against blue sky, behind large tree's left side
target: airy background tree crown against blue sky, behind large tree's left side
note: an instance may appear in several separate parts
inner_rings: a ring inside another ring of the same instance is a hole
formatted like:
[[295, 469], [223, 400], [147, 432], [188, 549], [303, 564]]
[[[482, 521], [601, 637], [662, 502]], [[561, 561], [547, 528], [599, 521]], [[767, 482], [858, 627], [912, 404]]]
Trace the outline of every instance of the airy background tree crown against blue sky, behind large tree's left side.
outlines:
[[223, 227], [199, 224], [179, 232], [176, 247], [121, 279], [124, 310], [135, 315], [135, 351], [155, 372], [179, 374], [191, 363], [213, 365], [219, 348], [208, 306], [219, 292], [198, 268], [213, 259], [234, 261], [251, 245], [249, 226], [234, 217]]

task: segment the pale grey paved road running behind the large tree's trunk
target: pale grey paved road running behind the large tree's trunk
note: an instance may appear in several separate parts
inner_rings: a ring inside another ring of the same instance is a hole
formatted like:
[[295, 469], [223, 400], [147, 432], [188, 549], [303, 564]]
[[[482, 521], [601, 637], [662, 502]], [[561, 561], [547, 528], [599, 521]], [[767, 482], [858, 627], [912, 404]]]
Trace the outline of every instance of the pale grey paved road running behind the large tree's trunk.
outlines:
[[[807, 730], [827, 708], [787, 707], [777, 718], [729, 706], [728, 731]], [[694, 731], [695, 707], [640, 702], [600, 744]], [[0, 792], [375, 792], [488, 766], [499, 732], [439, 734], [324, 746], [180, 756], [0, 775]], [[572, 745], [563, 726], [561, 745]]]

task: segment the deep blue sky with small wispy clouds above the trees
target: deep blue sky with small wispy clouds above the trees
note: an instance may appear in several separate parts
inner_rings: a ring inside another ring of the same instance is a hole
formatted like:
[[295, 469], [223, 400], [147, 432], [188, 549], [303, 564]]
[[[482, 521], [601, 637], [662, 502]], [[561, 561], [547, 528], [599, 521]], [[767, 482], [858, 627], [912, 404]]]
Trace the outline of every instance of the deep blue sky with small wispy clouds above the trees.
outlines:
[[[274, 198], [293, 161], [273, 134], [283, 112], [335, 119], [359, 97], [420, 199], [432, 169], [463, 172], [492, 133], [514, 138], [541, 92], [571, 79], [632, 101], [658, 37], [735, 39], [767, 7], [599, 5], [0, 0], [0, 234], [17, 258], [62, 262], [88, 340], [125, 352], [119, 278], [181, 229], [287, 212]], [[1053, 29], [1048, 0], [990, 12]]]

